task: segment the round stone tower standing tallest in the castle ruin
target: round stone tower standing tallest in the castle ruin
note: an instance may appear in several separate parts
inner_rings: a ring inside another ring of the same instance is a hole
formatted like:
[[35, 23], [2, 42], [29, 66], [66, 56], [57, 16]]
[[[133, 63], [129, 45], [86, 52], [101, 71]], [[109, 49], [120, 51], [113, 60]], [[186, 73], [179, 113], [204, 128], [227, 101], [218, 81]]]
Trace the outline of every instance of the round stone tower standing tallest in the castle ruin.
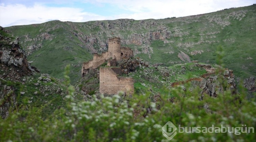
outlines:
[[109, 57], [112, 59], [121, 59], [121, 39], [113, 37], [109, 39]]

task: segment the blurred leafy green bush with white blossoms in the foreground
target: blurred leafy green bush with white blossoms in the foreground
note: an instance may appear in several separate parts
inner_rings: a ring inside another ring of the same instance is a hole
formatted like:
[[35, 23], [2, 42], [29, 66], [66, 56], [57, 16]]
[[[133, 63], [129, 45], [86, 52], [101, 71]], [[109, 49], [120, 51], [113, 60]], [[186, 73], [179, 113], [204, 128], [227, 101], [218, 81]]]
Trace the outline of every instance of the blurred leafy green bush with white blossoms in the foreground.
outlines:
[[[74, 87], [69, 85], [68, 68], [66, 96], [68, 109], [58, 109], [42, 119], [41, 108], [20, 106], [0, 121], [0, 141], [102, 141], [151, 142], [168, 141], [162, 126], [171, 121], [176, 127], [255, 127], [255, 100], [224, 91], [216, 98], [189, 84], [178, 86], [169, 95], [151, 94], [125, 97], [121, 92], [110, 96], [93, 95], [90, 101], [75, 102]], [[255, 95], [255, 94], [254, 94]], [[173, 98], [174, 96], [174, 98]], [[243, 126], [242, 126], [243, 125]], [[172, 141], [253, 141], [254, 133], [177, 133]]]

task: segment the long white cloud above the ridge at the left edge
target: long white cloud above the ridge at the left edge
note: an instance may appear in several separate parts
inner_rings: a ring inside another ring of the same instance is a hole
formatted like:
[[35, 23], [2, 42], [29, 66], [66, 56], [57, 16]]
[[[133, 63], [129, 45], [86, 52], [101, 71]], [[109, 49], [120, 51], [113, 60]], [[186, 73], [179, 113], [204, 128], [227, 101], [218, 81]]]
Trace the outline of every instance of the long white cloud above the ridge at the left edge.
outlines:
[[3, 27], [28, 25], [56, 19], [73, 22], [104, 19], [103, 16], [82, 11], [82, 9], [70, 7], [46, 7], [40, 4], [35, 4], [31, 7], [26, 7], [22, 4], [1, 4], [0, 25]]

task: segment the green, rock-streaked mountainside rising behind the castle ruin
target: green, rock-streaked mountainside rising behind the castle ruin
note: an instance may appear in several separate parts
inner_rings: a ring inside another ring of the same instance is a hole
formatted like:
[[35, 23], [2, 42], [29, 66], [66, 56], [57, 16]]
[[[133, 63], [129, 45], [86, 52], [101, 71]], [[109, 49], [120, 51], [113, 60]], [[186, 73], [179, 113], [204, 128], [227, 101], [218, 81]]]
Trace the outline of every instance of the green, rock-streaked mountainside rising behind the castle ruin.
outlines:
[[118, 36], [136, 57], [164, 66], [190, 60], [215, 64], [216, 48], [225, 51], [225, 67], [241, 78], [256, 76], [256, 5], [208, 14], [166, 19], [117, 19], [89, 22], [49, 21], [41, 24], [6, 27], [28, 53], [31, 65], [41, 73], [62, 78], [71, 64], [71, 80], [81, 78], [81, 65], [93, 52], [108, 48], [108, 38]]

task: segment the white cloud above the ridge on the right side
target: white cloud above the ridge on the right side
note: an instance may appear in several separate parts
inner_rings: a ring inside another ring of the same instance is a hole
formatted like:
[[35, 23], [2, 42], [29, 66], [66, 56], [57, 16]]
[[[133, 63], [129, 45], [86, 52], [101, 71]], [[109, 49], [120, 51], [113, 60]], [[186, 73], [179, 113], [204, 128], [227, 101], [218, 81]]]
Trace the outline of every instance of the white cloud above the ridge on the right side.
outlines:
[[215, 12], [230, 7], [248, 6], [255, 0], [97, 0], [132, 11], [134, 19], [183, 17]]

